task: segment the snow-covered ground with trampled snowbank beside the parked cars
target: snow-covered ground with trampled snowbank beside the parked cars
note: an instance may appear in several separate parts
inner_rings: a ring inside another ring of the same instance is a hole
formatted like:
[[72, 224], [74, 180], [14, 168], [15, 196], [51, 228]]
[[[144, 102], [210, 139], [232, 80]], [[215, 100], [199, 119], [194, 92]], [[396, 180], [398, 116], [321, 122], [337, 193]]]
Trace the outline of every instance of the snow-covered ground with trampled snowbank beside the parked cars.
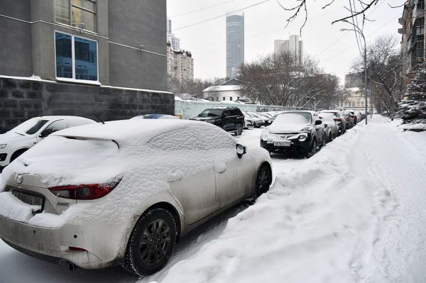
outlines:
[[[260, 135], [239, 140], [250, 150]], [[425, 132], [374, 116], [310, 160], [273, 155], [273, 167], [268, 194], [184, 238], [152, 277], [68, 272], [0, 241], [0, 282], [426, 282]]]

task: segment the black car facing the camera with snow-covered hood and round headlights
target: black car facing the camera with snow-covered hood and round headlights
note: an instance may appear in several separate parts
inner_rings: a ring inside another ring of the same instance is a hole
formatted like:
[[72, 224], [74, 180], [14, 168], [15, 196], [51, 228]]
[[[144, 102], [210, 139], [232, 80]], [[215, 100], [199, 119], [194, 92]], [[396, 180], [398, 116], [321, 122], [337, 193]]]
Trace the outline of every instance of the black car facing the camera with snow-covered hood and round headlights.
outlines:
[[322, 145], [324, 125], [314, 111], [283, 112], [261, 135], [261, 147], [268, 152], [300, 152], [311, 157]]

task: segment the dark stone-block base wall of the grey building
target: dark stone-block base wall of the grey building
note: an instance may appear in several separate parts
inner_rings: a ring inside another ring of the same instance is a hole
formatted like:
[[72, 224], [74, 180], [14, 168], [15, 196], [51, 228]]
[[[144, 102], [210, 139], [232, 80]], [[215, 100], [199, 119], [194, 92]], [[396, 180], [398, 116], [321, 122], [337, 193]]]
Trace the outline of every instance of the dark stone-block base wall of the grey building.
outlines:
[[175, 97], [81, 84], [0, 78], [0, 133], [35, 116], [72, 115], [104, 121], [147, 113], [175, 113]]

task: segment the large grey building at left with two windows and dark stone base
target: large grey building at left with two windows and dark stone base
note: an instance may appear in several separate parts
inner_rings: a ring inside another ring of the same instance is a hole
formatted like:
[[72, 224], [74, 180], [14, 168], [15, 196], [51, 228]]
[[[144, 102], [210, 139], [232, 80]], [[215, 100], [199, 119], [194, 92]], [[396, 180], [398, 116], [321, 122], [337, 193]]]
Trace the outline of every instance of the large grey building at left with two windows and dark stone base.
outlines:
[[[37, 84], [48, 84], [49, 89], [65, 91], [65, 95], [66, 89], [82, 91], [81, 95], [93, 104], [92, 93], [98, 93], [99, 88], [102, 92], [113, 88], [145, 91], [150, 97], [158, 94], [165, 102], [165, 14], [166, 0], [2, 0], [0, 76], [4, 82], [0, 102], [4, 115], [0, 117], [0, 129], [31, 118], [30, 111], [33, 115], [53, 113], [49, 101], [43, 99], [55, 101], [55, 95], [48, 95], [46, 87], [35, 90], [40, 100], [36, 105], [40, 107], [27, 109], [29, 104], [22, 99], [27, 98], [25, 87], [31, 86], [34, 79], [39, 81]], [[32, 79], [25, 82], [29, 77]], [[69, 95], [80, 97], [77, 93]], [[161, 108], [158, 101], [144, 100], [141, 109], [151, 111], [151, 102]], [[106, 120], [129, 118], [133, 112], [117, 109], [122, 104], [125, 102], [93, 106]], [[173, 106], [166, 104], [162, 111], [173, 113]], [[79, 111], [82, 108], [86, 110]], [[90, 109], [77, 104], [55, 109], [55, 114], [93, 118]], [[23, 116], [17, 118], [17, 110]]]

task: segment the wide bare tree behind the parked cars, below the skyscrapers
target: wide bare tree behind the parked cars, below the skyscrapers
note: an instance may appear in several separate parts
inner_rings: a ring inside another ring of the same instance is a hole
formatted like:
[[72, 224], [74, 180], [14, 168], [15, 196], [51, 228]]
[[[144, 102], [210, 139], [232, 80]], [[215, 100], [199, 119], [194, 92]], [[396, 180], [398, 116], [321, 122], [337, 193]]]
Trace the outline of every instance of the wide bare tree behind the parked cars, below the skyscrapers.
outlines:
[[338, 79], [321, 72], [311, 58], [300, 65], [290, 52], [268, 55], [241, 65], [241, 92], [264, 105], [310, 107], [338, 87]]

